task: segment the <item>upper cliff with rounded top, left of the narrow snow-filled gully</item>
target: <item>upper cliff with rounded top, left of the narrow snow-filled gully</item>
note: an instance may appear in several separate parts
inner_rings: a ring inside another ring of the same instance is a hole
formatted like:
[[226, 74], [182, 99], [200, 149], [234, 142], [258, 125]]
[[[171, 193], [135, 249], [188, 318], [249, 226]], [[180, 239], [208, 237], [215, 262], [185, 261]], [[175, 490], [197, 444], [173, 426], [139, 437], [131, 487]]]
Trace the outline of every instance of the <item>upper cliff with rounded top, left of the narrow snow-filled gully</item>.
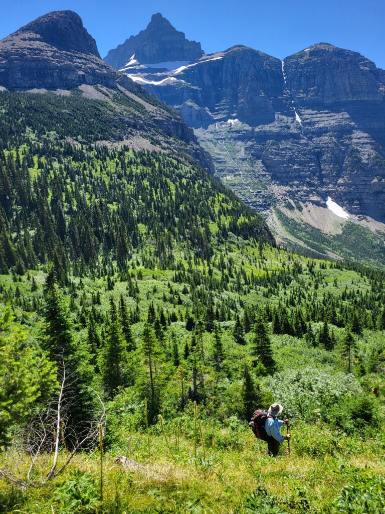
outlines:
[[[275, 112], [289, 111], [284, 100], [281, 61], [262, 52], [236, 46], [182, 68], [170, 71], [169, 80], [160, 84], [162, 87], [144, 85], [179, 108], [192, 101], [199, 109], [206, 109], [206, 124], [230, 117], [251, 126], [267, 124], [274, 121]], [[156, 82], [157, 75], [147, 77]], [[187, 118], [186, 121], [200, 126], [197, 120]]]

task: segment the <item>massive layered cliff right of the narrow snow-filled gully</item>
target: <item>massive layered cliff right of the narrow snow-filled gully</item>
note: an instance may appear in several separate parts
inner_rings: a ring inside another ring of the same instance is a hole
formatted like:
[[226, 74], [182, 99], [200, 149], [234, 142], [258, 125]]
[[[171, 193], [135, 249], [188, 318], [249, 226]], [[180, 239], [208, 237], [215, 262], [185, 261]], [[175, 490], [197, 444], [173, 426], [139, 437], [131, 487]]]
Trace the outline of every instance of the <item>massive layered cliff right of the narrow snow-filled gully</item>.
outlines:
[[320, 43], [284, 60], [323, 186], [354, 214], [385, 221], [385, 81], [357, 52]]

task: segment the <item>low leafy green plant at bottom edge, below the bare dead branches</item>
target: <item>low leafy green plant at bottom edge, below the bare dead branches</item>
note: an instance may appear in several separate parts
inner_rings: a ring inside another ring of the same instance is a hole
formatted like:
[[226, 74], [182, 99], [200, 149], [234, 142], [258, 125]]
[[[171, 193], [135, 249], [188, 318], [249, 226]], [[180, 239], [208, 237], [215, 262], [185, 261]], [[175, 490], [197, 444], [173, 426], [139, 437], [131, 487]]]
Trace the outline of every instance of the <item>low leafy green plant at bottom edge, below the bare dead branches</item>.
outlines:
[[60, 512], [90, 511], [99, 503], [99, 493], [91, 475], [84, 471], [74, 471], [62, 484], [57, 486], [54, 500], [60, 502]]

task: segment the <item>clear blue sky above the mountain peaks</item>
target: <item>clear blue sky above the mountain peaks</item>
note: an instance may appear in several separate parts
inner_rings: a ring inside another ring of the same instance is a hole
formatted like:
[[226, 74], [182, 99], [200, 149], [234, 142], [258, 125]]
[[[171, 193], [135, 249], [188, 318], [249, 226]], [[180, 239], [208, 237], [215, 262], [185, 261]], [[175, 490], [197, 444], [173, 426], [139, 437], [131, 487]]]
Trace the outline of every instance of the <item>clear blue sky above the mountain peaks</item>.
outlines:
[[101, 56], [161, 12], [206, 53], [243, 44], [284, 58], [314, 43], [358, 51], [385, 68], [383, 0], [1, 0], [0, 39], [49, 11], [71, 9]]

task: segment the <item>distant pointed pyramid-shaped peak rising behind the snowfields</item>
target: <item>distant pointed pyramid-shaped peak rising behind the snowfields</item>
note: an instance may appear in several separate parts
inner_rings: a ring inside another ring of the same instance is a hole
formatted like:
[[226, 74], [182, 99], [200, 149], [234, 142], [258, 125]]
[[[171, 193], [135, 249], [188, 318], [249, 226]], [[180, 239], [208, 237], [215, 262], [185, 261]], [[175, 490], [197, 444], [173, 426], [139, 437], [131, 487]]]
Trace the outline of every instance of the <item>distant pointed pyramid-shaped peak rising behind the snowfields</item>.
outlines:
[[114, 68], [122, 68], [134, 55], [143, 64], [194, 61], [203, 54], [201, 44], [188, 41], [162, 14], [153, 14], [145, 30], [110, 50], [104, 58]]

